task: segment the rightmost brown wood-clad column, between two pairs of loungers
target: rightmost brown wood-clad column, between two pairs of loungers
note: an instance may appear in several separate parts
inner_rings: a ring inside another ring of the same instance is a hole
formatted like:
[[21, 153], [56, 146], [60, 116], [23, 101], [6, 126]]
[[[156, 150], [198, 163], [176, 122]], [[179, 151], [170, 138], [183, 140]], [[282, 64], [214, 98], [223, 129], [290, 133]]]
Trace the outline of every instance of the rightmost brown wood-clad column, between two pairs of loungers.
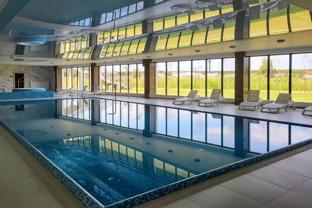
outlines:
[[249, 88], [249, 64], [245, 52], [235, 52], [235, 95], [234, 104], [239, 105], [247, 98]]

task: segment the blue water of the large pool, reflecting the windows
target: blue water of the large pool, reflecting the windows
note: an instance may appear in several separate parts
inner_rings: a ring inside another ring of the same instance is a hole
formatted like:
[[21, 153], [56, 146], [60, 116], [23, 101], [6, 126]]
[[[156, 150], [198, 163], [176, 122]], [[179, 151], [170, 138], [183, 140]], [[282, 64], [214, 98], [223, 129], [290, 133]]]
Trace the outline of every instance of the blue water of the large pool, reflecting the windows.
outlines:
[[312, 137], [310, 126], [105, 99], [1, 106], [0, 118], [104, 206]]

